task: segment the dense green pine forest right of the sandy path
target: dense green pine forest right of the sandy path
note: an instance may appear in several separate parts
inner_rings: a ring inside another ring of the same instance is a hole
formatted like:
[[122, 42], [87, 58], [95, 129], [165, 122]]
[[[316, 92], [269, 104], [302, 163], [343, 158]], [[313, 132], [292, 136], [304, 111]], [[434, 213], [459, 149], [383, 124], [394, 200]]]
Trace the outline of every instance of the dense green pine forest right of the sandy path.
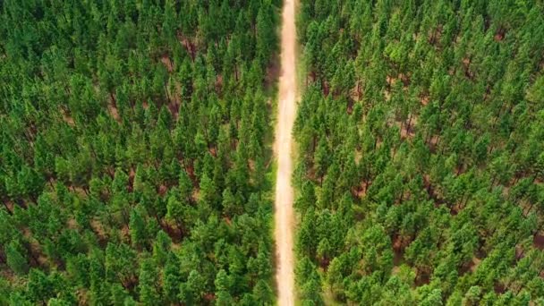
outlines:
[[544, 303], [544, 5], [302, 0], [299, 296]]

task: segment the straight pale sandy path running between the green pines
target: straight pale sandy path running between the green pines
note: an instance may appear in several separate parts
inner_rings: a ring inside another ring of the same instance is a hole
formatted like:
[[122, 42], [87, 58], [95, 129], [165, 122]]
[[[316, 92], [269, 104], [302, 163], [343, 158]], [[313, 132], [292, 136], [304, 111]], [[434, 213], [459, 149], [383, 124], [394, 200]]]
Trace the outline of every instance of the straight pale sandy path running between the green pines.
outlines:
[[277, 158], [276, 176], [276, 283], [277, 302], [280, 306], [294, 305], [293, 274], [293, 161], [291, 147], [295, 118], [296, 71], [294, 1], [284, 0], [282, 13], [281, 67], [279, 101], [274, 150]]

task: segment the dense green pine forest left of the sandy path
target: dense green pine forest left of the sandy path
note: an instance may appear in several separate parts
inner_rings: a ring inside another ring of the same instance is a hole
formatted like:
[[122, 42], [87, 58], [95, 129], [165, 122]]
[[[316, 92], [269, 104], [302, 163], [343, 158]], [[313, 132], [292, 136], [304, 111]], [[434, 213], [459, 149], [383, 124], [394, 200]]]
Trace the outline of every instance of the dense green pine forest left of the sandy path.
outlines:
[[0, 305], [270, 304], [279, 1], [0, 1]]

